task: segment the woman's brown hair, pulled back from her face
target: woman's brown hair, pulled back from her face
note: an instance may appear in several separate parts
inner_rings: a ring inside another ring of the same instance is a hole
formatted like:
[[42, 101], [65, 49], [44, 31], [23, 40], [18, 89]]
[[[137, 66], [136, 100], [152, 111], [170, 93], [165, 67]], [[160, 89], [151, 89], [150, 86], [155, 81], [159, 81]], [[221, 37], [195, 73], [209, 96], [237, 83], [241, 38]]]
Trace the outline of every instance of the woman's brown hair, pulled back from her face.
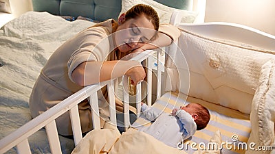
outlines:
[[125, 14], [126, 21], [130, 18], [137, 18], [144, 15], [149, 21], [151, 21], [156, 31], [159, 29], [159, 16], [157, 15], [157, 12], [149, 5], [134, 5], [130, 10], [125, 12]]

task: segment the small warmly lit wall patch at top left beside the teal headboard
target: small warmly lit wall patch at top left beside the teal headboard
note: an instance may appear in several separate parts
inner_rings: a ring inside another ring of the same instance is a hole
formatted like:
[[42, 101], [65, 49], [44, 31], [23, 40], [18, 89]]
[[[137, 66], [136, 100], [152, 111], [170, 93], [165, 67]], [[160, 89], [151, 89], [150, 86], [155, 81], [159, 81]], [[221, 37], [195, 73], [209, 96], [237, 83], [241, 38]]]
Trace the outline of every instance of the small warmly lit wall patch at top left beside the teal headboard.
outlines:
[[32, 0], [10, 0], [10, 7], [13, 16], [18, 17], [25, 12], [32, 11]]

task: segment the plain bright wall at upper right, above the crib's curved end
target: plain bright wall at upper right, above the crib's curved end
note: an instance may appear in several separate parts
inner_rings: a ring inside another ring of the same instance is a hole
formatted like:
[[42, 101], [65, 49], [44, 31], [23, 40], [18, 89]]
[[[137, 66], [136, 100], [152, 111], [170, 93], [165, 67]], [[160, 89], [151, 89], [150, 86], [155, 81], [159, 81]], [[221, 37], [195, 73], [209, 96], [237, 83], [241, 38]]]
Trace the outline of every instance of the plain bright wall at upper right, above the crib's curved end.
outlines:
[[247, 25], [275, 36], [274, 0], [207, 0], [205, 22]]

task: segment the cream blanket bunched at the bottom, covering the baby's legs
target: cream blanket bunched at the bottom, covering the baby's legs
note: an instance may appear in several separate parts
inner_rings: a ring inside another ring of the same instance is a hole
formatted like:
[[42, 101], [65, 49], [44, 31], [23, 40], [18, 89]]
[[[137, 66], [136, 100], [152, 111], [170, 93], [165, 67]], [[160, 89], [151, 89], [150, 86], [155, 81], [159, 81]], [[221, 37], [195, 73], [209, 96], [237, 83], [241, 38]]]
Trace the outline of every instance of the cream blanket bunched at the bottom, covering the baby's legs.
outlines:
[[120, 153], [186, 153], [160, 142], [144, 132], [129, 129], [94, 129], [78, 143], [72, 154], [120, 154]]

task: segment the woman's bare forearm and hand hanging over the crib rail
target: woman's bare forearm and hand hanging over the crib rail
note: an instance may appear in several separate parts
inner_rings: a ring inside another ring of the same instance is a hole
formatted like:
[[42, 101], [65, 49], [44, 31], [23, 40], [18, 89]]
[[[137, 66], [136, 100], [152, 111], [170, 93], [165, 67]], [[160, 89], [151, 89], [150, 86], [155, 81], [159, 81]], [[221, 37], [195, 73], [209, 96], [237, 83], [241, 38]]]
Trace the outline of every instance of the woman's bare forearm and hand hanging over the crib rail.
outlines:
[[101, 81], [115, 79], [128, 75], [136, 85], [146, 76], [142, 64], [137, 61], [113, 60], [106, 62], [83, 62], [72, 72], [72, 80], [80, 85], [87, 86]]

